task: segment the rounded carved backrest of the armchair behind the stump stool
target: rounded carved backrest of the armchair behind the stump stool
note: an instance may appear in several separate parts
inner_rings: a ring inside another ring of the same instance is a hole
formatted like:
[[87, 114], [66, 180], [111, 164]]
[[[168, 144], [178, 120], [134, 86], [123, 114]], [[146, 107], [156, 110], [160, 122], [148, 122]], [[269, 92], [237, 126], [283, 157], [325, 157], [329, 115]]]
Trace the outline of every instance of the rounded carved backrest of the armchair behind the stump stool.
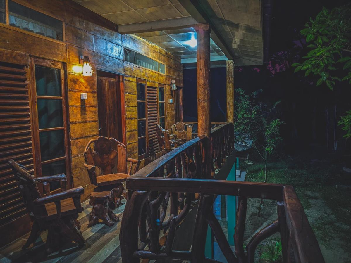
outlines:
[[[112, 148], [113, 143], [117, 144], [116, 150]], [[116, 165], [117, 173], [127, 173], [127, 147], [114, 138], [99, 136], [90, 140], [84, 149], [84, 159], [87, 164], [100, 169], [96, 176], [112, 174]], [[93, 183], [91, 174], [89, 176]]]

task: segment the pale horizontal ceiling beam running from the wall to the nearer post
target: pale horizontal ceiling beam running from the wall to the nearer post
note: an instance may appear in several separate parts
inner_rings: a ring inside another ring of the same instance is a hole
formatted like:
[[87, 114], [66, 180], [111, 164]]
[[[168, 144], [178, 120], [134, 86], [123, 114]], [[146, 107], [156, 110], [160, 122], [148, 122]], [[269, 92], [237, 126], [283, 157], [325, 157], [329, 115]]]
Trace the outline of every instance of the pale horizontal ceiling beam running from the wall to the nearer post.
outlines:
[[186, 16], [181, 18], [170, 18], [150, 22], [118, 25], [118, 33], [137, 34], [144, 32], [188, 28], [193, 27], [196, 24], [198, 24], [198, 22], [195, 19], [193, 19], [191, 16]]

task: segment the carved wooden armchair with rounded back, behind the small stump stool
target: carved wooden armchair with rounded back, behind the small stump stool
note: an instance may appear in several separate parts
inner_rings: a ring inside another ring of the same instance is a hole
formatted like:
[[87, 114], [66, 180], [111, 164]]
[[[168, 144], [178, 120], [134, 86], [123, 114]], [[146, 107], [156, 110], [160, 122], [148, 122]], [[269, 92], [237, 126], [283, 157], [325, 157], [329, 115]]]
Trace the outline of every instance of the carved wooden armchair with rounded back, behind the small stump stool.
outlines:
[[[117, 150], [112, 149], [112, 142], [117, 144]], [[101, 136], [88, 142], [84, 149], [84, 158], [90, 181], [96, 186], [94, 192], [112, 190], [115, 205], [120, 205], [123, 195], [126, 197], [122, 182], [138, 171], [140, 160], [127, 158], [127, 147], [116, 139]], [[127, 162], [130, 163], [129, 167]], [[116, 163], [116, 173], [113, 173]]]

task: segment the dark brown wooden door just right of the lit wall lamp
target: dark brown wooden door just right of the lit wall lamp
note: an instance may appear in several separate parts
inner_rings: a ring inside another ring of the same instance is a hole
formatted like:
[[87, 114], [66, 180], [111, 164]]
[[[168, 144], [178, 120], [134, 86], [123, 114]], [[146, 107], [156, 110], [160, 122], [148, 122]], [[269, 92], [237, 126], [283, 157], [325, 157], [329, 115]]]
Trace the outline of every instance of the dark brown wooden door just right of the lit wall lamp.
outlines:
[[98, 115], [99, 135], [120, 138], [120, 100], [118, 99], [119, 82], [115, 78], [98, 76]]

